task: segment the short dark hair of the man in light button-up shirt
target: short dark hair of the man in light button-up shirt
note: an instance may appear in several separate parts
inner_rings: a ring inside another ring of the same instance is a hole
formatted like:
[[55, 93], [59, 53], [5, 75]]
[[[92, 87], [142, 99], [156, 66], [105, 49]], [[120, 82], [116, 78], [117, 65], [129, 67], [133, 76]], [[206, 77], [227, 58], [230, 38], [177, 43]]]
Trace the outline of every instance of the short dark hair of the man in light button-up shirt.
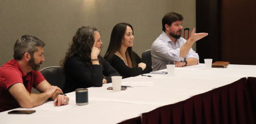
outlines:
[[176, 22], [177, 20], [182, 21], [183, 20], [183, 16], [174, 12], [169, 12], [166, 15], [164, 15], [163, 19], [162, 19], [162, 30], [165, 32], [166, 31], [166, 24], [168, 26], [171, 26], [171, 24], [173, 22]]

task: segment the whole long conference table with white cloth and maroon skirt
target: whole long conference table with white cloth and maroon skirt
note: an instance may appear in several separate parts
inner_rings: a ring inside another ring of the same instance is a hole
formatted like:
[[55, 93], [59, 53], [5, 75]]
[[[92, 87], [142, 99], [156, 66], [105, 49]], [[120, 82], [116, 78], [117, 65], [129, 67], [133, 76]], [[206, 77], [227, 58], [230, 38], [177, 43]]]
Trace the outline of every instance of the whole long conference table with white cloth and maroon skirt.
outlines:
[[[166, 69], [161, 70], [167, 72]], [[0, 123], [255, 123], [256, 65], [205, 69], [204, 64], [175, 68], [175, 76], [147, 74], [125, 78], [137, 83], [121, 92], [112, 84], [88, 88], [89, 104], [52, 101], [28, 110], [30, 115], [0, 113]], [[27, 110], [18, 108], [14, 110]], [[10, 111], [10, 110], [9, 110]]]

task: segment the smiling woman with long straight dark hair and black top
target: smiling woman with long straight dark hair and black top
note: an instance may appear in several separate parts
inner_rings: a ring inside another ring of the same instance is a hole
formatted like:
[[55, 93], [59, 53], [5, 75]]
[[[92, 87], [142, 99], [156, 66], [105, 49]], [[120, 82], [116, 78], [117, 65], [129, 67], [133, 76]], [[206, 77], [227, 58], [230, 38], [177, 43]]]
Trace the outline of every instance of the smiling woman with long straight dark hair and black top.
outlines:
[[133, 27], [128, 23], [114, 26], [105, 60], [123, 77], [134, 77], [152, 71], [150, 65], [133, 52]]

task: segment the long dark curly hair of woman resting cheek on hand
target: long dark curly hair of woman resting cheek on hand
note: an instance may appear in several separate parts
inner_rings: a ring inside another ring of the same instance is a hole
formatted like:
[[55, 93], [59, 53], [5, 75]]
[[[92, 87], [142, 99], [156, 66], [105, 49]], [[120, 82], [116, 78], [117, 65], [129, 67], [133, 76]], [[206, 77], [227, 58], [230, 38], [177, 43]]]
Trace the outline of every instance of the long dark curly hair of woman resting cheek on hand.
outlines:
[[[100, 33], [100, 30], [95, 27], [82, 26], [77, 31], [72, 38], [72, 42], [69, 43], [68, 51], [66, 52], [65, 58], [60, 61], [60, 65], [64, 70], [67, 68], [67, 63], [73, 57], [78, 56], [80, 60], [84, 61], [85, 65], [92, 70], [92, 62], [90, 61], [90, 53], [92, 52], [92, 47], [94, 44], [94, 34], [96, 32]], [[102, 67], [102, 59], [98, 55], [99, 63]]]

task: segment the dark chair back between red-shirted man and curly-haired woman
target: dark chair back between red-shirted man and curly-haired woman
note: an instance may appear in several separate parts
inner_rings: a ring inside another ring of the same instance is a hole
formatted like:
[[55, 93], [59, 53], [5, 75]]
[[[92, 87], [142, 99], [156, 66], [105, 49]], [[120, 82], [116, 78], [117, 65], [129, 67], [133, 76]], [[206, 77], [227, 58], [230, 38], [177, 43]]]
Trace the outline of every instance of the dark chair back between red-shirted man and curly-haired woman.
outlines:
[[65, 76], [61, 67], [46, 67], [43, 68], [40, 72], [44, 78], [46, 78], [49, 84], [58, 86], [61, 90], [63, 89]]

